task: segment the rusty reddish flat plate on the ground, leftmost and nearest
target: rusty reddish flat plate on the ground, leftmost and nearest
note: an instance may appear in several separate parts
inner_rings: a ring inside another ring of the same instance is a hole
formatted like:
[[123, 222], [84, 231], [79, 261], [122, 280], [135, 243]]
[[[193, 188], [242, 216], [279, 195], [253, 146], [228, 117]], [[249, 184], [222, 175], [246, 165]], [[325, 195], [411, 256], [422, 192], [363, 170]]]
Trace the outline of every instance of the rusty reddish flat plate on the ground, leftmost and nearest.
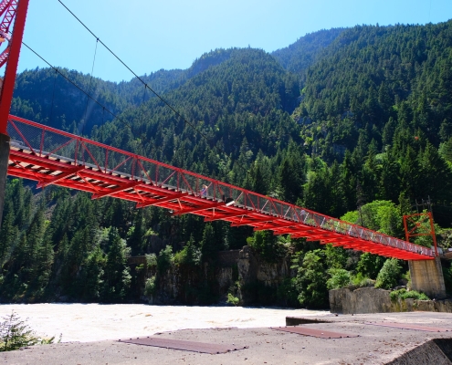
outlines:
[[226, 353], [238, 349], [247, 349], [247, 346], [219, 345], [187, 341], [184, 339], [163, 339], [161, 337], [142, 337], [136, 339], [120, 339], [119, 342], [133, 343], [135, 345], [154, 346], [165, 349], [183, 349], [185, 351], [203, 352], [209, 354]]

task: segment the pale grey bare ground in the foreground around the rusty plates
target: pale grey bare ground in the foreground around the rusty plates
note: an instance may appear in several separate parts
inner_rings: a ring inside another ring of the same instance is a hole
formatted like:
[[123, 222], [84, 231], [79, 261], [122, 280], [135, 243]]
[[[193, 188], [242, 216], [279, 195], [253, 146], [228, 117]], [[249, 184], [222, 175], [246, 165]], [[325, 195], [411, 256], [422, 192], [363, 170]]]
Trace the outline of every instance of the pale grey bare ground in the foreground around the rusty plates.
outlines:
[[[359, 335], [359, 337], [319, 339], [271, 328], [180, 329], [162, 332], [155, 336], [216, 344], [234, 344], [236, 347], [247, 346], [248, 348], [210, 355], [105, 340], [67, 342], [4, 352], [0, 355], [0, 360], [9, 365], [385, 364], [407, 351], [425, 344], [430, 339], [452, 339], [452, 331], [426, 332], [365, 324], [369, 321], [390, 321], [452, 330], [452, 314], [448, 313], [411, 312], [337, 317], [330, 315], [321, 316], [319, 319], [327, 320], [328, 323], [310, 323], [301, 326]], [[424, 362], [413, 363], [435, 363], [435, 365], [451, 363], [446, 357], [438, 358], [434, 353], [426, 354], [426, 358], [422, 361]]]

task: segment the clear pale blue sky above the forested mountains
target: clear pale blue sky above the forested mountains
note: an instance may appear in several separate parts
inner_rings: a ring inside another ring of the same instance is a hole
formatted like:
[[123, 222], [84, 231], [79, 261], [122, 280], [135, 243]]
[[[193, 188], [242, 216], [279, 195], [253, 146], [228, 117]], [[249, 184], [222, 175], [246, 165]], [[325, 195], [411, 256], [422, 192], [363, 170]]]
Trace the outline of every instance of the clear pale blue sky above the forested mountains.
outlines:
[[[452, 18], [450, 0], [62, 1], [139, 75], [189, 68], [196, 57], [219, 47], [271, 52], [323, 28]], [[24, 41], [55, 66], [91, 71], [96, 40], [58, 0], [30, 0]], [[23, 47], [19, 71], [43, 66]], [[132, 78], [103, 47], [98, 47], [94, 76]]]

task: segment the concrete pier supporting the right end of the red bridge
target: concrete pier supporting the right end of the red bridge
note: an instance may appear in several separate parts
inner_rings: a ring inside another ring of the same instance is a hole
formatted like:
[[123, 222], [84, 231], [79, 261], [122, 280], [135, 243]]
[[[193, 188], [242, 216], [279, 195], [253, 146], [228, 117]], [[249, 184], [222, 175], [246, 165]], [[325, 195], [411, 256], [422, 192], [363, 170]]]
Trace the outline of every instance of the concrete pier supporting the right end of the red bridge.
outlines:
[[428, 297], [442, 299], [446, 297], [441, 260], [435, 257], [433, 260], [408, 261], [413, 290], [422, 291]]

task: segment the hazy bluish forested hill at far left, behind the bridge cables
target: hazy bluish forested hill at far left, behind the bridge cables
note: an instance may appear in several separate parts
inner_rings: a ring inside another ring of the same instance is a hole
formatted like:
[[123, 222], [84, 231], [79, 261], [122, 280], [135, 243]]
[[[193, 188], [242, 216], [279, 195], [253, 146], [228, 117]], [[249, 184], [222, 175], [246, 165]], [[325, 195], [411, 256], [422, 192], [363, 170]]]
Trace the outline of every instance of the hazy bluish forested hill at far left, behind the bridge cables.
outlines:
[[[182, 84], [186, 74], [183, 70], [162, 69], [142, 76], [142, 80], [162, 93]], [[80, 89], [99, 101], [105, 110]], [[113, 119], [109, 110], [115, 115], [121, 114], [128, 107], [137, 107], [153, 96], [149, 90], [144, 91], [138, 79], [114, 83], [67, 68], [58, 68], [58, 72], [52, 68], [37, 68], [17, 75], [11, 113], [51, 127], [89, 135], [94, 125]]]

